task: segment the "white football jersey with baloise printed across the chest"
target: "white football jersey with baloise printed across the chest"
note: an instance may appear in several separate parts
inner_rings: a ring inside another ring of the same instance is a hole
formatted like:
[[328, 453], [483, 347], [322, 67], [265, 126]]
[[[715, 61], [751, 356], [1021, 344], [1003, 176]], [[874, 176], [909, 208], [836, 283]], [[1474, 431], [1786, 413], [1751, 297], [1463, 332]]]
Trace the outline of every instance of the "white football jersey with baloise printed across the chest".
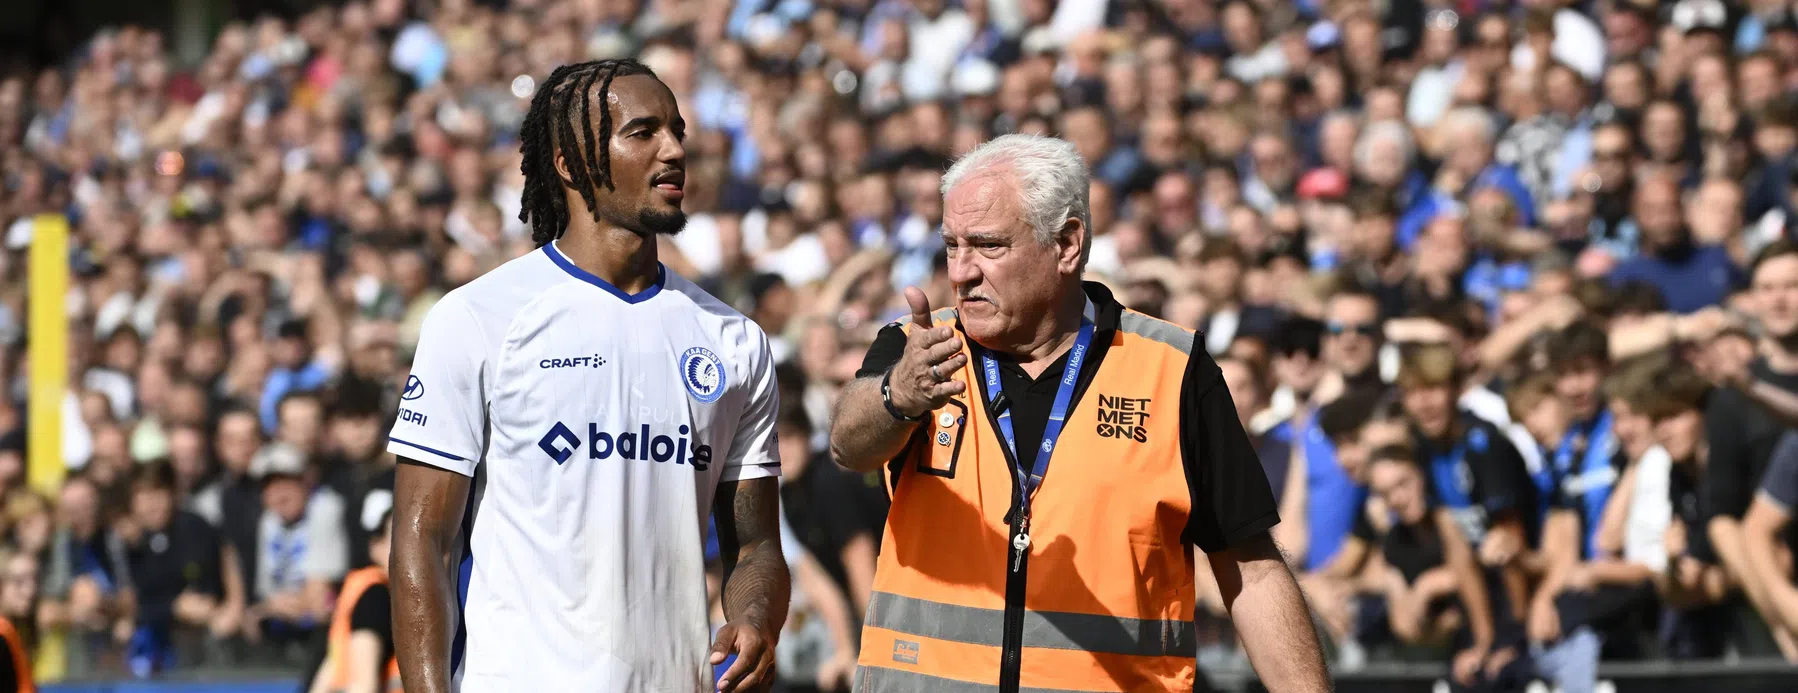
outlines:
[[624, 293], [556, 245], [424, 319], [388, 450], [473, 477], [464, 693], [710, 691], [719, 482], [780, 473], [768, 337], [690, 281]]

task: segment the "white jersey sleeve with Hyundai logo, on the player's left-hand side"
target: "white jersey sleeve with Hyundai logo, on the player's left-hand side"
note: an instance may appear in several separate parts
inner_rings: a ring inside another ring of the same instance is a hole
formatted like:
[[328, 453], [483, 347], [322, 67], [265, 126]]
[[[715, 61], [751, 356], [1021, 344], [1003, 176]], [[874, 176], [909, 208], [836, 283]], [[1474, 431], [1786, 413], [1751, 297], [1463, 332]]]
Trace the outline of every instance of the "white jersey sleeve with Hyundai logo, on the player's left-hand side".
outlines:
[[419, 329], [387, 452], [473, 477], [485, 432], [482, 362], [485, 338], [475, 313], [455, 297], [432, 306]]

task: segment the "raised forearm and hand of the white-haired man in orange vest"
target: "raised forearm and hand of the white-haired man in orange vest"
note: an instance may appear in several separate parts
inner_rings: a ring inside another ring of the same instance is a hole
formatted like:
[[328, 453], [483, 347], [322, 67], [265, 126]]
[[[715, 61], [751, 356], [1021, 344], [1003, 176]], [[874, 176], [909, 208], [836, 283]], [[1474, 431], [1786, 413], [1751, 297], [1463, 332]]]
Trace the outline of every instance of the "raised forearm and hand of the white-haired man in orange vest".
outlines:
[[843, 387], [831, 416], [831, 459], [856, 472], [874, 472], [897, 457], [917, 430], [917, 421], [901, 421], [886, 410], [881, 380], [888, 382], [894, 409], [904, 416], [924, 416], [966, 389], [960, 380], [939, 382], [931, 374], [933, 364], [944, 376], [967, 364], [955, 328], [931, 326], [930, 302], [917, 288], [906, 288], [904, 297], [917, 328], [910, 335], [881, 329], [859, 376]]

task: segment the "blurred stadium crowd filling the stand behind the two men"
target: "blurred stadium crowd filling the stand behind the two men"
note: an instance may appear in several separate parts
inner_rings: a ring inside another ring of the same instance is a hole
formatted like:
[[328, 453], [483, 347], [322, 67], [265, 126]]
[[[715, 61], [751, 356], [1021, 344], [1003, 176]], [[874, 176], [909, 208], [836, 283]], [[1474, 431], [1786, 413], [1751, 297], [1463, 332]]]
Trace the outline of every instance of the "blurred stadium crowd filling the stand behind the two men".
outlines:
[[[0, 76], [0, 614], [72, 675], [316, 662], [424, 311], [532, 250], [534, 76], [628, 54], [690, 124], [663, 263], [782, 362], [786, 686], [849, 682], [885, 515], [820, 455], [834, 392], [895, 288], [949, 304], [940, 173], [1010, 131], [1090, 164], [1093, 277], [1203, 331], [1336, 666], [1798, 661], [1789, 0], [358, 0], [198, 65], [101, 32]], [[1206, 607], [1201, 659], [1239, 657]]]

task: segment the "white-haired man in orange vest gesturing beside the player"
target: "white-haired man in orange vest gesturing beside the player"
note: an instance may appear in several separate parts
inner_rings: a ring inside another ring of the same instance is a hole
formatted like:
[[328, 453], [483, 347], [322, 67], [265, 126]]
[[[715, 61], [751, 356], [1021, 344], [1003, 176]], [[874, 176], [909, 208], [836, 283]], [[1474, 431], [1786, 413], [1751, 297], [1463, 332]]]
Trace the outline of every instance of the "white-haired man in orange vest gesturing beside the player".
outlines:
[[1073, 146], [1000, 137], [942, 189], [957, 308], [908, 288], [832, 419], [894, 490], [858, 689], [1190, 691], [1192, 545], [1268, 688], [1327, 689], [1217, 364], [1081, 283]]

